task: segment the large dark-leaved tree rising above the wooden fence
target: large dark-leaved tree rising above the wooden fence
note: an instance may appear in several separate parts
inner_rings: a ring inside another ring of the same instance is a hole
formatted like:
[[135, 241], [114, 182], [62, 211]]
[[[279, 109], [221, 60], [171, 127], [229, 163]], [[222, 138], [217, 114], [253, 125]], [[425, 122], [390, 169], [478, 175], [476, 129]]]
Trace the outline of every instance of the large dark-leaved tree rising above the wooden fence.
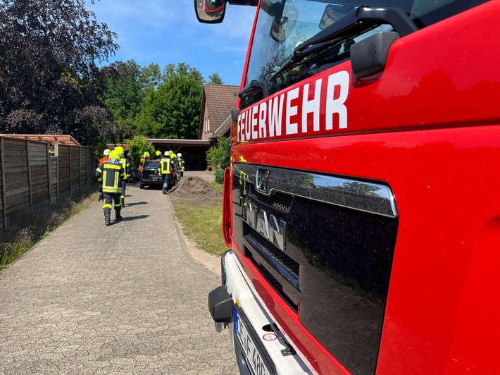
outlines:
[[97, 62], [118, 45], [85, 0], [0, 2], [0, 131], [104, 136]]

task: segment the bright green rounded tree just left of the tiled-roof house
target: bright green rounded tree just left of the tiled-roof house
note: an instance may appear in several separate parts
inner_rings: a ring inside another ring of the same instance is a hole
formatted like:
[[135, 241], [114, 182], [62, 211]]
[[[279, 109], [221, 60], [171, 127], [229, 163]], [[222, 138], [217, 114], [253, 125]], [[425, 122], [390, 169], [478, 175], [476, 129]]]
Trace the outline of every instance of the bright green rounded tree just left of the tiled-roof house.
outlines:
[[[198, 136], [203, 75], [187, 63], [169, 64], [163, 82], [146, 98], [142, 119], [153, 137], [190, 139]], [[144, 126], [144, 123], [142, 124]]]

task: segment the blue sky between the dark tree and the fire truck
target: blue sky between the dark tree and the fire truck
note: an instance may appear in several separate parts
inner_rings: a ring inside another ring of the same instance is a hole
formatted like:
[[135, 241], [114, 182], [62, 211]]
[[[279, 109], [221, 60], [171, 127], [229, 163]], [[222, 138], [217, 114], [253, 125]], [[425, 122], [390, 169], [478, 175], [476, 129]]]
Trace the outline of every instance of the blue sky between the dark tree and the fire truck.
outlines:
[[199, 23], [193, 0], [101, 0], [87, 9], [118, 33], [113, 61], [134, 59], [141, 66], [187, 63], [206, 80], [218, 71], [226, 85], [239, 85], [256, 12], [227, 6], [223, 23]]

